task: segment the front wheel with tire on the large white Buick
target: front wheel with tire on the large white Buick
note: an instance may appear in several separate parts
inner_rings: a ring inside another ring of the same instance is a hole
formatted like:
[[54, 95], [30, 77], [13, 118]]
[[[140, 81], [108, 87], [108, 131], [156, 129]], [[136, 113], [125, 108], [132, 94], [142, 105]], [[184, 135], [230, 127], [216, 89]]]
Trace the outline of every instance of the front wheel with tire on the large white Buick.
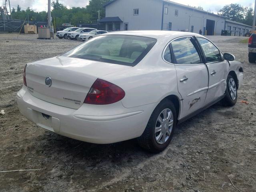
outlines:
[[224, 106], [234, 106], [237, 101], [237, 84], [232, 75], [228, 75], [225, 97], [222, 100]]

